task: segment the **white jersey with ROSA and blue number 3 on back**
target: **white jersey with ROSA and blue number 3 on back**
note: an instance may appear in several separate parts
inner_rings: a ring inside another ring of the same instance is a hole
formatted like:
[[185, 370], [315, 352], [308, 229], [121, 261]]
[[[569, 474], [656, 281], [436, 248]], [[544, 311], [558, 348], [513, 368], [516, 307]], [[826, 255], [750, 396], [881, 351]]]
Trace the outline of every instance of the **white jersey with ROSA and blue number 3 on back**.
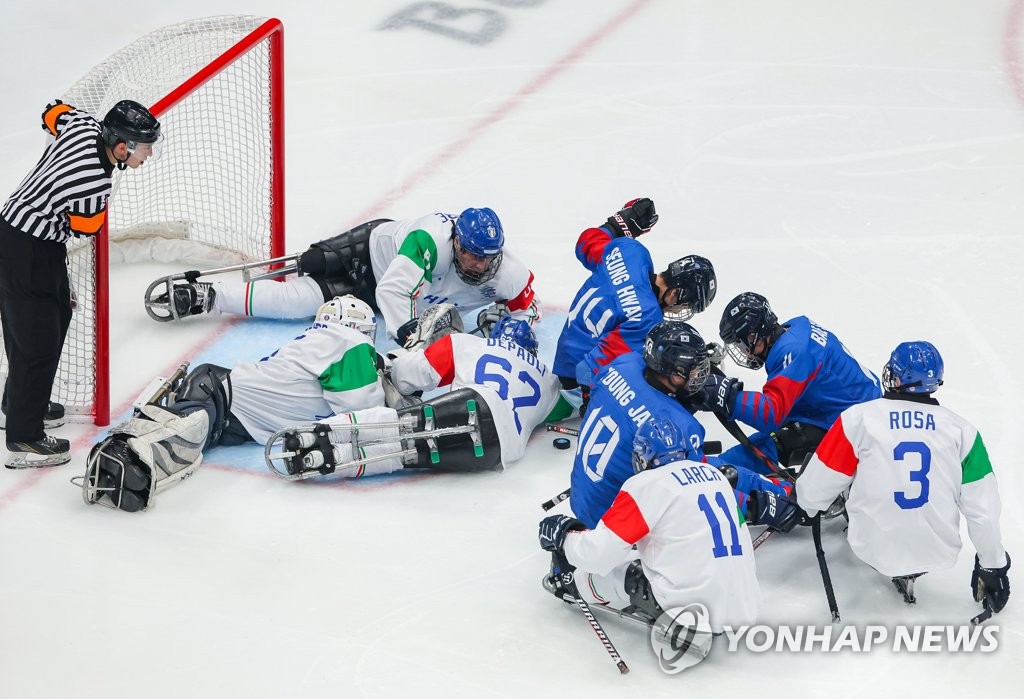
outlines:
[[850, 548], [889, 576], [950, 568], [959, 515], [981, 565], [1006, 565], [999, 494], [978, 431], [932, 399], [884, 398], [847, 408], [797, 482], [813, 514], [850, 489]]

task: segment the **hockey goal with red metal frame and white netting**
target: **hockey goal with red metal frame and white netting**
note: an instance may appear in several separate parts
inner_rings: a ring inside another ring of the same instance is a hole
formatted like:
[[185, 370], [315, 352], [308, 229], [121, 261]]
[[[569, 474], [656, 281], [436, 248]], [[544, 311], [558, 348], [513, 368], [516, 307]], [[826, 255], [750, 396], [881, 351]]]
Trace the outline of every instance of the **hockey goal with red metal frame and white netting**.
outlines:
[[[69, 414], [110, 423], [111, 260], [234, 264], [284, 254], [283, 35], [280, 20], [253, 16], [166, 27], [62, 96], [99, 120], [134, 99], [164, 135], [159, 159], [115, 171], [106, 230], [69, 245], [77, 307], [52, 396]], [[141, 311], [142, 291], [125, 302]]]

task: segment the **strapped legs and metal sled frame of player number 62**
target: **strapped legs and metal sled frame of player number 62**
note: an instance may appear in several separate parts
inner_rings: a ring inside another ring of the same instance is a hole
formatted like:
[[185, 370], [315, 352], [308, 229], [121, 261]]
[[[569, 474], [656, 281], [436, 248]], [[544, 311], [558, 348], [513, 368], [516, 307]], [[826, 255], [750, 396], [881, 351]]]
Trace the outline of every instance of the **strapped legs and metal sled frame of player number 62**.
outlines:
[[286, 480], [504, 468], [490, 408], [471, 388], [398, 410], [374, 407], [281, 430], [267, 441], [265, 458], [267, 468]]

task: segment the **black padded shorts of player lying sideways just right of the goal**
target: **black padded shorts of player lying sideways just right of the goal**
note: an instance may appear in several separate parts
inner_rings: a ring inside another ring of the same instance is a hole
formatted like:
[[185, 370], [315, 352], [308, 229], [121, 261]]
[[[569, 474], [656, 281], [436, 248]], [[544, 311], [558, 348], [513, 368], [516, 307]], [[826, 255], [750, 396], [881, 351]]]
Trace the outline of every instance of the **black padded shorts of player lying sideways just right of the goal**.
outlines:
[[375, 312], [377, 280], [370, 262], [370, 232], [391, 219], [380, 218], [359, 224], [334, 237], [314, 243], [299, 256], [299, 271], [308, 274], [324, 292], [324, 300], [353, 294]]

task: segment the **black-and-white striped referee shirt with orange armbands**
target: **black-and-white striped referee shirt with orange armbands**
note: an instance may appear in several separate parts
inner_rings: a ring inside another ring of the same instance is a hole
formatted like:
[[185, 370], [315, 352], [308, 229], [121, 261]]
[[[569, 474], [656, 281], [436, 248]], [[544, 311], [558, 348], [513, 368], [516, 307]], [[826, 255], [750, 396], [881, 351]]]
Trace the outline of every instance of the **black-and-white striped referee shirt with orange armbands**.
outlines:
[[54, 137], [0, 216], [43, 241], [95, 235], [106, 219], [114, 164], [99, 122], [59, 99], [46, 105], [43, 130]]

